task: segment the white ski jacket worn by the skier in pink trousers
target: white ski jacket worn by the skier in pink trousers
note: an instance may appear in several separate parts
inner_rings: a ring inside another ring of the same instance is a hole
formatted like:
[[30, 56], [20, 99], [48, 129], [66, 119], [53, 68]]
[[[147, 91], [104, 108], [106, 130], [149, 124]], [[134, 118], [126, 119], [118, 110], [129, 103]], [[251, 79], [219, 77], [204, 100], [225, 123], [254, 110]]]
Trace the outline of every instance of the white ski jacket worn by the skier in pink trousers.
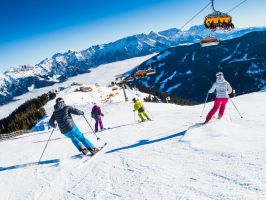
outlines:
[[216, 98], [229, 98], [232, 93], [231, 85], [224, 79], [224, 77], [217, 77], [216, 82], [212, 85], [209, 93], [216, 90]]

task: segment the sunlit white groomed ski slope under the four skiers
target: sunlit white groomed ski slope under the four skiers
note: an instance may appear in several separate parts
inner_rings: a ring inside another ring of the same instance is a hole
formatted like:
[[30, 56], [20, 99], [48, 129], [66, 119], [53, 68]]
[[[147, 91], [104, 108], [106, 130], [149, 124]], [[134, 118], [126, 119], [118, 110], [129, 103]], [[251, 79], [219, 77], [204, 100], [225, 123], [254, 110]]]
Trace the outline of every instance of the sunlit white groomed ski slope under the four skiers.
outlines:
[[[266, 199], [266, 93], [234, 98], [225, 116], [197, 123], [202, 106], [145, 103], [154, 121], [135, 123], [133, 104], [121, 90], [62, 91], [68, 105], [86, 112], [92, 102], [105, 114], [97, 141], [85, 120], [78, 127], [96, 146], [108, 145], [86, 163], [70, 140], [56, 129], [40, 163], [50, 132], [31, 133], [1, 142], [0, 194], [8, 200], [243, 200]], [[114, 93], [111, 101], [106, 96]], [[130, 99], [145, 94], [127, 90]], [[51, 115], [53, 102], [45, 109]], [[205, 113], [212, 103], [207, 104]], [[137, 116], [136, 116], [137, 118]]]

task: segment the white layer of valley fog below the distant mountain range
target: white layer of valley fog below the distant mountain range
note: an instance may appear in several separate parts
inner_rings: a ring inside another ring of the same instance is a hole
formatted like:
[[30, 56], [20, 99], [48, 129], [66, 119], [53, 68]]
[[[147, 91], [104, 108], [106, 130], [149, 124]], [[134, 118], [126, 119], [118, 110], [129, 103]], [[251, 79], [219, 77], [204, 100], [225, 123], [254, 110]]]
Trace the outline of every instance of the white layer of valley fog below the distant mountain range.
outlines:
[[48, 91], [60, 90], [59, 88], [68, 88], [74, 82], [91, 85], [98, 83], [102, 86], [108, 86], [112, 81], [115, 81], [117, 75], [132, 70], [135, 66], [140, 65], [145, 60], [151, 58], [154, 55], [156, 54], [135, 57], [127, 60], [100, 65], [97, 68], [92, 68], [90, 73], [70, 77], [68, 80], [61, 83], [58, 82], [54, 85], [43, 88], [29, 88], [29, 92], [14, 97], [10, 103], [0, 106], [1, 119], [7, 117], [12, 111], [14, 111], [26, 101], [32, 98], [37, 98], [38, 96], [41, 96], [42, 94], [47, 93]]

